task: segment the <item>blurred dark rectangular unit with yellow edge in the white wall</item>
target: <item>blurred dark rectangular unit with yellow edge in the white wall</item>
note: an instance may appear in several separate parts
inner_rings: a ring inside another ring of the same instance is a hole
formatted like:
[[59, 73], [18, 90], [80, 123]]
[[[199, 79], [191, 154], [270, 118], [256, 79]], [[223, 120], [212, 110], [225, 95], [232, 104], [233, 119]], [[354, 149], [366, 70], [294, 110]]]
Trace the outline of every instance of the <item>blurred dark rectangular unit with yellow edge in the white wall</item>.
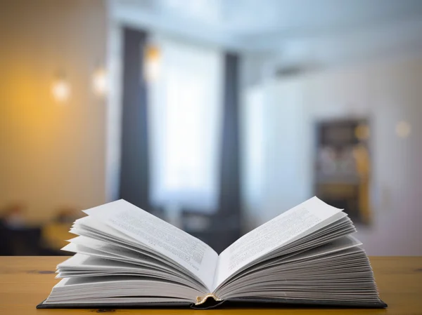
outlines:
[[369, 124], [366, 119], [337, 119], [316, 124], [314, 192], [353, 222], [369, 224]]

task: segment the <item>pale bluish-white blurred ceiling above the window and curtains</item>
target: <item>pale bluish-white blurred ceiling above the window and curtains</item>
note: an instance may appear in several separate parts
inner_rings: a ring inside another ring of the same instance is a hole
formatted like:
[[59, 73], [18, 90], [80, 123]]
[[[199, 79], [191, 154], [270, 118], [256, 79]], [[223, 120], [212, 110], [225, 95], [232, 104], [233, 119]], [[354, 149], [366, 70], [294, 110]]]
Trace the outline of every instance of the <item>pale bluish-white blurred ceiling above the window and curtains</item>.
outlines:
[[286, 62], [422, 48], [421, 0], [110, 0], [117, 20]]

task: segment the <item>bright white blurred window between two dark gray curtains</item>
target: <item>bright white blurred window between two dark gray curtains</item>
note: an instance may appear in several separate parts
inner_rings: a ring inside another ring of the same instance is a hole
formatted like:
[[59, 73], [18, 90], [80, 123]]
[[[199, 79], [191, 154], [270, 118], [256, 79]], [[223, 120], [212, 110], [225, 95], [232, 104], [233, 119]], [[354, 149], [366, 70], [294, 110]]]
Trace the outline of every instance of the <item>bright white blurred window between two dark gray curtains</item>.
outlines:
[[217, 208], [222, 54], [158, 39], [150, 82], [151, 201], [212, 213]]

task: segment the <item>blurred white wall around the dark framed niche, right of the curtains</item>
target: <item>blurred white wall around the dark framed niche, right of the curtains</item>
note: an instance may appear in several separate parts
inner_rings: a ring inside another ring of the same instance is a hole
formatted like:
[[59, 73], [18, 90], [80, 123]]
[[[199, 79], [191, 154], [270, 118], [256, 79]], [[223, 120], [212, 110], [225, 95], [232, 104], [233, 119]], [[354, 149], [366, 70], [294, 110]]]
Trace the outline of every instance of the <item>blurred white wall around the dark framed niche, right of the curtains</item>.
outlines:
[[[369, 255], [422, 255], [422, 56], [350, 65], [246, 93], [246, 112], [261, 93], [264, 119], [264, 180], [260, 204], [248, 203], [245, 228], [287, 210], [312, 195], [314, 123], [318, 119], [370, 116], [373, 224], [359, 228]], [[246, 114], [248, 116], [248, 114]], [[407, 139], [397, 121], [411, 124]], [[248, 143], [248, 138], [243, 138]], [[246, 145], [247, 147], [248, 145]], [[245, 159], [245, 187], [253, 181]]]

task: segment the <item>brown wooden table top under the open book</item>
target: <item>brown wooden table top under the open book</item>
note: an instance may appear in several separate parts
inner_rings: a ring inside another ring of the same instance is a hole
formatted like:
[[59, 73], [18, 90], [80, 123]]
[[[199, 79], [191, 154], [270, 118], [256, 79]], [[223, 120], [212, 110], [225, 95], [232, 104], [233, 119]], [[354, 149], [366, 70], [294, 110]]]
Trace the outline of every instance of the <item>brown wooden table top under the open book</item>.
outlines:
[[0, 257], [0, 314], [422, 314], [422, 257], [371, 257], [388, 309], [35, 309], [57, 282], [56, 264], [66, 257]]

